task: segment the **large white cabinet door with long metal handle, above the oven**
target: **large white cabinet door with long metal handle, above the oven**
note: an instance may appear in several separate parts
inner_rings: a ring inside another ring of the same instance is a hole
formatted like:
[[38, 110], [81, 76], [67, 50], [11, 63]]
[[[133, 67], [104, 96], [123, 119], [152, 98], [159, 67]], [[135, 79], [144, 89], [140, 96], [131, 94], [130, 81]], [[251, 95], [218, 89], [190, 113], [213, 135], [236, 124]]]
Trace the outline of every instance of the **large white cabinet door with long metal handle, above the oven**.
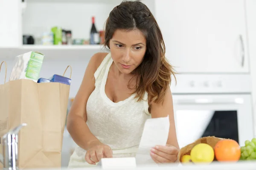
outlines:
[[244, 0], [156, 0], [155, 17], [176, 71], [248, 72]]

